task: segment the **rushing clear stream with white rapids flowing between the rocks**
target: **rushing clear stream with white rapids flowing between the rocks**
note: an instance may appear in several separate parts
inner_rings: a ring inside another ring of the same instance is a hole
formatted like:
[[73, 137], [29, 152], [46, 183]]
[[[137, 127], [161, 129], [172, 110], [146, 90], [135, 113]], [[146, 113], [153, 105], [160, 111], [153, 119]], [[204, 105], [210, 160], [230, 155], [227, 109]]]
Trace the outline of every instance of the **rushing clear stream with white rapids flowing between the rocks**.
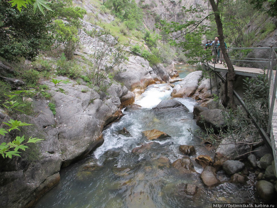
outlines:
[[[172, 167], [173, 161], [183, 157], [179, 145], [194, 145], [197, 155], [212, 156], [212, 153], [188, 130], [198, 128], [192, 114], [194, 100], [178, 99], [189, 112], [152, 109], [161, 100], [170, 99], [171, 91], [168, 84], [149, 86], [135, 101], [142, 108], [125, 111], [118, 122], [107, 127], [103, 131], [103, 145], [86, 159], [62, 169], [61, 181], [35, 207], [175, 208], [211, 207], [217, 202], [256, 202], [251, 182], [247, 185], [225, 182], [208, 189], [203, 186], [199, 174], [185, 174]], [[130, 135], [118, 133], [124, 127]], [[171, 137], [147, 146], [149, 141], [141, 132], [153, 128]], [[141, 145], [147, 147], [132, 153], [132, 149]], [[201, 173], [201, 166], [196, 163], [194, 166]], [[221, 181], [228, 180], [222, 172], [218, 177]], [[195, 196], [185, 194], [180, 188], [182, 183], [195, 184], [199, 187], [198, 193]]]

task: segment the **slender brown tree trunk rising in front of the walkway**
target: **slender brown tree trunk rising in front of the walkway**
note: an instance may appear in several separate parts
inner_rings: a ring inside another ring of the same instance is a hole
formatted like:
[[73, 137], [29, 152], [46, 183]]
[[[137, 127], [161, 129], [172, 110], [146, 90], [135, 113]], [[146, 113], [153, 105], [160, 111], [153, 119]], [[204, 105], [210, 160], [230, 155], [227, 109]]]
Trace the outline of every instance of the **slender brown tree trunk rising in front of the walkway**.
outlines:
[[[219, 35], [219, 43], [220, 43], [220, 51], [223, 54], [223, 58], [226, 62], [228, 72], [227, 72], [227, 104], [231, 106], [231, 108], [235, 109], [235, 100], [234, 100], [234, 94], [233, 94], [233, 81], [235, 80], [235, 69], [231, 63], [231, 60], [227, 54], [227, 49], [224, 44], [224, 38], [223, 38], [223, 27], [222, 22], [220, 19], [220, 13], [218, 11], [218, 1], [215, 3], [214, 0], [209, 0], [212, 6], [212, 9], [215, 13], [215, 22], [217, 27], [217, 32]], [[225, 92], [226, 94], [226, 92]]]

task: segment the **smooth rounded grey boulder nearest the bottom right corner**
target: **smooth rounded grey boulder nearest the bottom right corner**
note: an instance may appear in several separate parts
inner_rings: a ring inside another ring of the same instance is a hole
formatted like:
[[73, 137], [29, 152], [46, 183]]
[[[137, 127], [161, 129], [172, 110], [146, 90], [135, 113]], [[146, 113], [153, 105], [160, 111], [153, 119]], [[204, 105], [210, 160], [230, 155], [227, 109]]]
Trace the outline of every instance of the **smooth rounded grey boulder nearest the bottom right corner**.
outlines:
[[271, 182], [261, 180], [256, 183], [256, 190], [261, 199], [269, 201], [274, 196], [275, 188]]

